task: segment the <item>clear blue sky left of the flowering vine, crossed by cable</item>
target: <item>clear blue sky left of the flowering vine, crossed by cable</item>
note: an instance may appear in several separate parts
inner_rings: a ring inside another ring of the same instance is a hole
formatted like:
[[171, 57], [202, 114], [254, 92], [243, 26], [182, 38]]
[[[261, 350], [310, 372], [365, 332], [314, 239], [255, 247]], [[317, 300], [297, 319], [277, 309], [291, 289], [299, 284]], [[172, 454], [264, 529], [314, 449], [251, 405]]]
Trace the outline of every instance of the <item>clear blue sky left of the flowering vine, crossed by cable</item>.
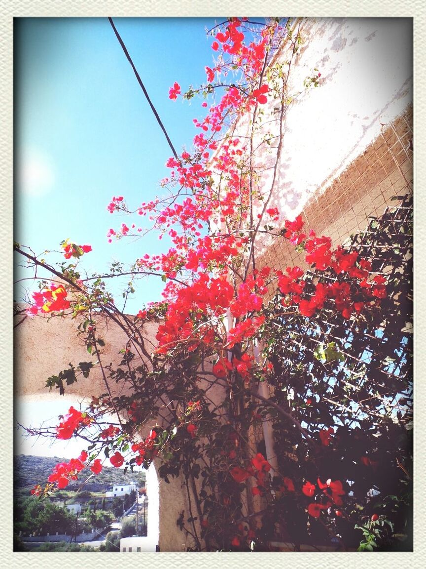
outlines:
[[[215, 55], [205, 30], [222, 21], [114, 20], [178, 152], [191, 146], [193, 118], [204, 109], [198, 98], [170, 100], [169, 88], [204, 83]], [[14, 41], [15, 240], [36, 253], [59, 249], [65, 238], [90, 244], [82, 265], [89, 273], [112, 259], [164, 251], [155, 234], [107, 243], [110, 227], [130, 225], [107, 212], [111, 197], [136, 208], [161, 194], [172, 155], [108, 19], [15, 19]], [[141, 282], [126, 311], [160, 298], [163, 286], [158, 278]]]

